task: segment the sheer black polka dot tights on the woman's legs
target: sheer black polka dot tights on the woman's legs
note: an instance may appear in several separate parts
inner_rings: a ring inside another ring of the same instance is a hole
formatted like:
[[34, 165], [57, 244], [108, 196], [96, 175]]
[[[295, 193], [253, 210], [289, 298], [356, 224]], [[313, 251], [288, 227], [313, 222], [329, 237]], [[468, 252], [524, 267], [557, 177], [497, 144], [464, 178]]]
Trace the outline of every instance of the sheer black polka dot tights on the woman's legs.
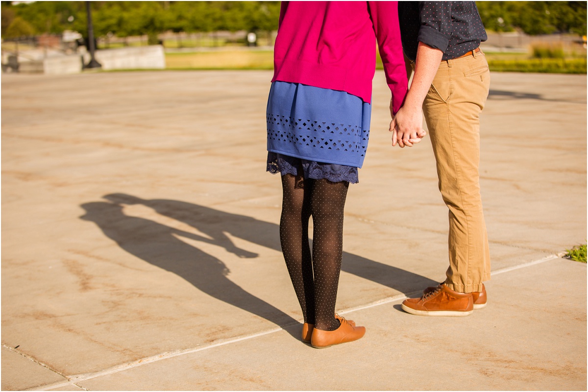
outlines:
[[[332, 331], [343, 255], [343, 209], [349, 183], [282, 176], [280, 242], [304, 320]], [[312, 216], [312, 254], [308, 238]]]

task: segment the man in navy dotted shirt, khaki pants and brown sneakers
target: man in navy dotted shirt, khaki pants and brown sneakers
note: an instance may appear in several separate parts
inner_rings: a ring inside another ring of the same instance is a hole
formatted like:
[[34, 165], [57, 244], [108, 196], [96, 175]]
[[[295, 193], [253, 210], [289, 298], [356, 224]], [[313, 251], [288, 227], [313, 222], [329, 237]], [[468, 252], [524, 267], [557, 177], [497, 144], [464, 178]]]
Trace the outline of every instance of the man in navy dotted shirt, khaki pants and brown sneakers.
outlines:
[[486, 305], [490, 254], [478, 167], [480, 121], [490, 86], [481, 41], [487, 39], [473, 1], [399, 2], [400, 33], [415, 70], [404, 106], [390, 123], [392, 144], [413, 146], [425, 135], [437, 162], [439, 190], [449, 208], [447, 279], [406, 299], [415, 315], [466, 316]]

